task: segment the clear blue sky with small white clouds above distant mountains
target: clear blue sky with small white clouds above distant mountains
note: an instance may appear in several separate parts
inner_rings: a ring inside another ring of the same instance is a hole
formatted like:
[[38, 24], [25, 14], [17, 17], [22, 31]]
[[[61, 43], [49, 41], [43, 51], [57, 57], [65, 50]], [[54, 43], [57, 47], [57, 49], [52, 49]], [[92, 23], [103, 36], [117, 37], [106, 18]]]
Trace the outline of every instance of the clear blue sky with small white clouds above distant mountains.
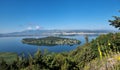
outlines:
[[0, 33], [23, 30], [116, 30], [120, 0], [0, 0]]

